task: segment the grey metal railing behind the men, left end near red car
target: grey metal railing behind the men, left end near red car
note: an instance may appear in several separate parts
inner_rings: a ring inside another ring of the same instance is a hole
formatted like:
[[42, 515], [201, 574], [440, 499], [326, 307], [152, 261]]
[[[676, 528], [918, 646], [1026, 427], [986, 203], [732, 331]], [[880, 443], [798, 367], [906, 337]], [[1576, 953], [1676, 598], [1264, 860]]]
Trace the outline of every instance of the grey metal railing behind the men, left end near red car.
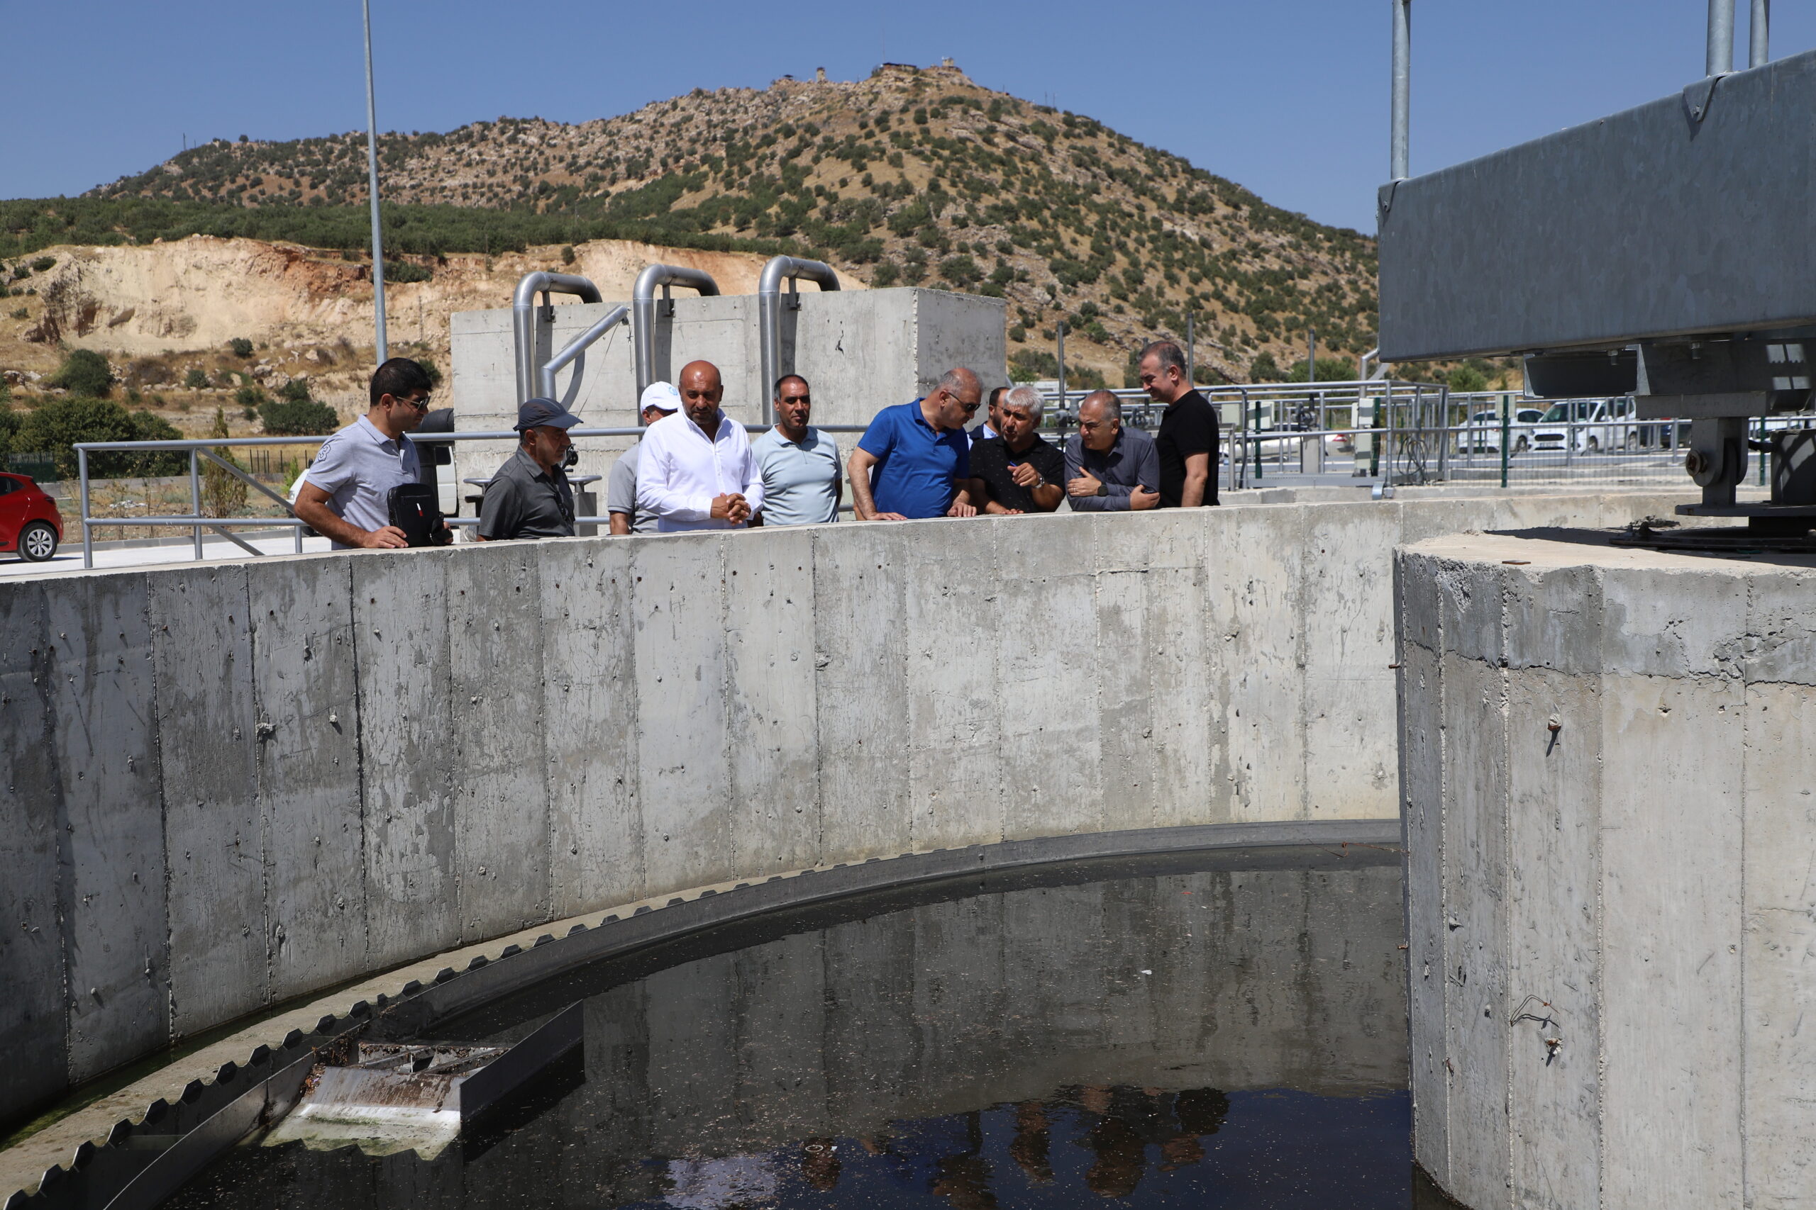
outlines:
[[[745, 424], [745, 432], [761, 434], [770, 428], [768, 424]], [[830, 434], [861, 434], [866, 424], [815, 424], [821, 432]], [[645, 428], [570, 428], [570, 437], [641, 437]], [[291, 508], [291, 501], [272, 492], [267, 484], [260, 483], [245, 472], [242, 466], [234, 466], [231, 461], [214, 454], [225, 446], [298, 446], [298, 444], [321, 444], [325, 437], [187, 437], [180, 441], [82, 441], [73, 448], [76, 452], [76, 472], [82, 484], [82, 566], [94, 566], [94, 528], [96, 526], [176, 526], [189, 528], [194, 532], [196, 559], [202, 559], [202, 535], [203, 530], [211, 530], [220, 537], [227, 539], [240, 550], [254, 557], [263, 557], [265, 551], [258, 550], [251, 542], [243, 541], [232, 532], [238, 528], [263, 528], [263, 530], [292, 530], [296, 537], [296, 553], [303, 553], [303, 532], [309, 528], [307, 522], [296, 517]], [[456, 432], [456, 434], [432, 434], [416, 441], [418, 446], [434, 446], [441, 443], [454, 441], [518, 441], [518, 434], [512, 430], [505, 432]], [[89, 497], [89, 454], [98, 454], [104, 450], [183, 450], [189, 454], [189, 504], [191, 512], [187, 515], [165, 515], [165, 517], [96, 517], [93, 503]], [[207, 461], [212, 466], [227, 472], [234, 479], [245, 483], [251, 490], [271, 499], [283, 510], [281, 517], [205, 517], [202, 515], [202, 464]], [[850, 504], [844, 506], [850, 512]], [[474, 526], [479, 524], [478, 517], [449, 517], [449, 526]], [[574, 524], [610, 524], [610, 517], [576, 517]]]

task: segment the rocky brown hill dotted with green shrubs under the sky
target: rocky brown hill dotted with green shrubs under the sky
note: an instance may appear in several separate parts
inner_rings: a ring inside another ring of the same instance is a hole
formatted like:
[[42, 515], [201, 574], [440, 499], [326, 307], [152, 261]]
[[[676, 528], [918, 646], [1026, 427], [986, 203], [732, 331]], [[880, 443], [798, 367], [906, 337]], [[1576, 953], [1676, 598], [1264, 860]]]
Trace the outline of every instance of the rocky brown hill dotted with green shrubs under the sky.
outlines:
[[[950, 65], [696, 89], [579, 125], [394, 132], [380, 172], [398, 203], [567, 216], [576, 236], [610, 221], [654, 243], [777, 241], [872, 285], [995, 294], [1024, 368], [1050, 365], [1059, 319], [1068, 361], [1111, 383], [1188, 314], [1209, 377], [1242, 381], [1260, 354], [1289, 365], [1306, 328], [1333, 354], [1375, 343], [1373, 239]], [[363, 203], [365, 138], [216, 140], [93, 196], [320, 214]]]

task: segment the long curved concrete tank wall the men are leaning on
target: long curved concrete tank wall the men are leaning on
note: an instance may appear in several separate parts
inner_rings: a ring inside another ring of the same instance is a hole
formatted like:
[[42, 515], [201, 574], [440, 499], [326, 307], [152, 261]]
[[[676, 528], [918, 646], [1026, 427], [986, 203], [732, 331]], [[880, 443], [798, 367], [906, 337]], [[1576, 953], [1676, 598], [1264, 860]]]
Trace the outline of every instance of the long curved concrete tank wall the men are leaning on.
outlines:
[[676, 889], [1398, 813], [1389, 551], [1520, 495], [271, 557], [0, 584], [0, 1116]]

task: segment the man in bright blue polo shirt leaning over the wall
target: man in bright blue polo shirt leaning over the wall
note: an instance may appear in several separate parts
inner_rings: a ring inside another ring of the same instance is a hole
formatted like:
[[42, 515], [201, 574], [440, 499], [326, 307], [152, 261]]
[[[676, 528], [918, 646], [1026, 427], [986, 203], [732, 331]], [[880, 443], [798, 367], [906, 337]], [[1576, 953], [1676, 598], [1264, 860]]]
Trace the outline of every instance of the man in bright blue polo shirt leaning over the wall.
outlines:
[[877, 412], [846, 464], [857, 519], [975, 517], [982, 493], [964, 423], [982, 397], [977, 376], [959, 366], [924, 399]]

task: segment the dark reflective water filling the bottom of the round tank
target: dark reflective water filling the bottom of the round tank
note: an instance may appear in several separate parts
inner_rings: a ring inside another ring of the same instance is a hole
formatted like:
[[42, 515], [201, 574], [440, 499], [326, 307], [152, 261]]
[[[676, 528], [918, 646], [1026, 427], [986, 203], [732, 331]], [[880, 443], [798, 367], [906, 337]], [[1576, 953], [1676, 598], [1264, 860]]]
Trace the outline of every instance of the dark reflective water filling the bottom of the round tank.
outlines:
[[432, 1159], [251, 1141], [169, 1205], [1406, 1208], [1400, 874], [1349, 849], [1046, 867], [599, 963], [581, 1056]]

